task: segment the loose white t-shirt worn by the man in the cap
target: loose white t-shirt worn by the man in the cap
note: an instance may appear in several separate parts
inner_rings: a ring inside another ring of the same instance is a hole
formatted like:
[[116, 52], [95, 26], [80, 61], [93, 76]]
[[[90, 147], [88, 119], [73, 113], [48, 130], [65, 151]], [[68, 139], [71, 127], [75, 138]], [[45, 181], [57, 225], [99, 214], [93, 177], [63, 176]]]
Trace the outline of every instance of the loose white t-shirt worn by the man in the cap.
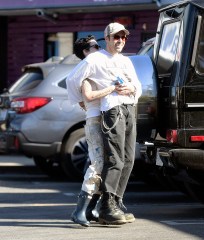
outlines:
[[66, 79], [68, 98], [75, 103], [82, 101], [81, 84], [86, 78], [94, 81], [97, 89], [101, 90], [115, 84], [117, 77], [125, 83], [131, 82], [136, 88], [136, 95], [122, 96], [113, 92], [101, 98], [100, 110], [107, 111], [122, 103], [137, 103], [142, 88], [131, 60], [122, 54], [111, 55], [106, 50], [89, 54], [70, 72]]

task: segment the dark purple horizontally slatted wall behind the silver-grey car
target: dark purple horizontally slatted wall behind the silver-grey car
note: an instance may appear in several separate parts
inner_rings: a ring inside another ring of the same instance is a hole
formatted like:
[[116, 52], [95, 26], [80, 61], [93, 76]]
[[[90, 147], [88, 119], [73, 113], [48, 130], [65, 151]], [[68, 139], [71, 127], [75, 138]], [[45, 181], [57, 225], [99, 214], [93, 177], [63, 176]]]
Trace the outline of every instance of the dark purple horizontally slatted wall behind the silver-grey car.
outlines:
[[[115, 16], [133, 16], [135, 24], [125, 52], [136, 53], [141, 45], [141, 34], [155, 33], [158, 12], [154, 10], [81, 13], [60, 15], [56, 24], [37, 16], [8, 17], [8, 86], [20, 75], [25, 64], [44, 61], [44, 34], [55, 32], [103, 31]], [[143, 24], [146, 23], [146, 31]]]

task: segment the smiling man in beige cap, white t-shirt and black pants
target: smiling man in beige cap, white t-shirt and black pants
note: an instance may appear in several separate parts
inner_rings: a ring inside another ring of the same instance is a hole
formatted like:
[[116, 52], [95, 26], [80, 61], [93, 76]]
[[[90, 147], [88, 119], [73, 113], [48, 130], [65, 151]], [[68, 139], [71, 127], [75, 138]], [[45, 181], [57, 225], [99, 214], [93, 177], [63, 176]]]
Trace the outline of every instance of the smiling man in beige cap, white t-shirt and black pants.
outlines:
[[142, 90], [131, 60], [121, 54], [127, 35], [129, 31], [122, 24], [110, 23], [104, 31], [106, 50], [88, 55], [67, 77], [73, 102], [82, 101], [85, 79], [95, 82], [98, 90], [116, 86], [100, 100], [104, 166], [99, 222], [105, 224], [127, 223], [127, 214], [118, 203], [122, 205], [135, 159], [136, 104]]

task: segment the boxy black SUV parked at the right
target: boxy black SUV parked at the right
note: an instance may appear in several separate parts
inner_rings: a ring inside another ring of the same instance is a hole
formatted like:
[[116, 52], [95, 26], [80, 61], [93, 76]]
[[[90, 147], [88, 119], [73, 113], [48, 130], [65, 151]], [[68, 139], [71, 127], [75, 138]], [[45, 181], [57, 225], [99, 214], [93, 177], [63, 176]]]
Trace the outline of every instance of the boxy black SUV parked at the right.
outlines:
[[204, 201], [204, 2], [160, 10], [153, 65], [157, 95], [141, 154]]

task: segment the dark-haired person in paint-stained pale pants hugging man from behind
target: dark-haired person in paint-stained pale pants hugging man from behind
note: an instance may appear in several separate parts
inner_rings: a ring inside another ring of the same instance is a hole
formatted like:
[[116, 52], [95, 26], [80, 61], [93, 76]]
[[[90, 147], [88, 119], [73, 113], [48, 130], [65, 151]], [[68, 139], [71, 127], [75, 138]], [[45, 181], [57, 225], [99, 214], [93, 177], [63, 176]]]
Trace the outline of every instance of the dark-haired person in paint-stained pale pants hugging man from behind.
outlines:
[[[89, 35], [75, 42], [74, 53], [80, 59], [84, 59], [90, 53], [98, 51], [99, 48], [95, 37]], [[115, 88], [116, 86], [110, 86], [103, 90], [97, 90], [96, 84], [89, 79], [85, 79], [81, 86], [82, 102], [79, 104], [86, 111], [85, 135], [88, 143], [90, 165], [84, 175], [77, 206], [72, 213], [71, 219], [85, 227], [90, 225], [90, 221], [98, 221], [96, 205], [101, 196], [99, 187], [103, 168], [104, 147], [101, 132], [100, 97], [110, 94]]]

